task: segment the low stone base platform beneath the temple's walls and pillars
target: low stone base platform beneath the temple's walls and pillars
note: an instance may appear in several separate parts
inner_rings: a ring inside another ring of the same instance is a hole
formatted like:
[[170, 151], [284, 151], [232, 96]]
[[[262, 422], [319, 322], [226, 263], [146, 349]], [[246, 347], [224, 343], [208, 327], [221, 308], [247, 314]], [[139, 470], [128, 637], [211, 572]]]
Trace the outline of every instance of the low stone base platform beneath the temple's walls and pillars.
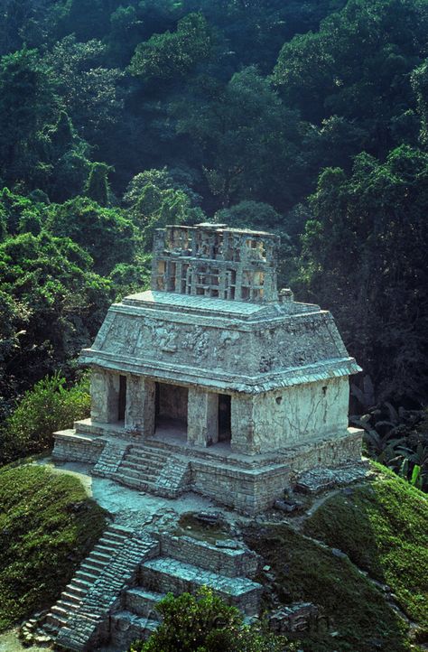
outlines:
[[[79, 430], [81, 428], [82, 424], [79, 424]], [[133, 436], [126, 441], [123, 433], [117, 438], [111, 429], [103, 431], [93, 426], [88, 430], [92, 433], [85, 435], [70, 430], [55, 433], [53, 458], [96, 464], [96, 470], [99, 470], [108, 450], [114, 450], [115, 463], [110, 465], [111, 469], [104, 465], [102, 475], [135, 489], [164, 496], [170, 494], [158, 489], [162, 489], [167, 464], [166, 475], [173, 478], [171, 467], [175, 461], [182, 470], [182, 478], [178, 474], [177, 488], [175, 493], [173, 490], [170, 492], [171, 497], [183, 490], [191, 490], [250, 515], [272, 507], [277, 498], [284, 497], [284, 489], [293, 488], [305, 471], [357, 464], [361, 461], [363, 434], [361, 430], [349, 428], [341, 435], [304, 442], [272, 455], [246, 456], [230, 452], [227, 446], [212, 446], [201, 451], [186, 442], [155, 438], [142, 442]], [[94, 433], [97, 431], [99, 434]], [[144, 465], [144, 460], [150, 461], [153, 456], [158, 461], [155, 475], [154, 461]], [[140, 464], [138, 459], [141, 459]], [[144, 474], [149, 466], [152, 474], [146, 477]]]

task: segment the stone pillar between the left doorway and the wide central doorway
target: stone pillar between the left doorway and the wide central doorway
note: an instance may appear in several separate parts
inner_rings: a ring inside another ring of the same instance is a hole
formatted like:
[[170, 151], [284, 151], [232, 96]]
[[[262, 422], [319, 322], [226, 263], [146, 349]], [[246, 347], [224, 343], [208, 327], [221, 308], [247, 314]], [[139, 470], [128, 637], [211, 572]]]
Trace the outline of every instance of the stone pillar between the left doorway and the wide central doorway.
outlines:
[[145, 438], [154, 435], [154, 380], [129, 374], [126, 381], [125, 427]]

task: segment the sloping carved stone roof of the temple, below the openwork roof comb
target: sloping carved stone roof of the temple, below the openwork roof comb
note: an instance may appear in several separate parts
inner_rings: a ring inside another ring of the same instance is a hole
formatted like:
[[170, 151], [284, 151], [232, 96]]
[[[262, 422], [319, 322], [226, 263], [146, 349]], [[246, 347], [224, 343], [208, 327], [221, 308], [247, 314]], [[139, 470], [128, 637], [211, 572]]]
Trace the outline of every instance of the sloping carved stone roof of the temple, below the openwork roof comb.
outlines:
[[319, 306], [152, 291], [112, 305], [80, 359], [159, 380], [251, 394], [360, 370], [330, 312]]

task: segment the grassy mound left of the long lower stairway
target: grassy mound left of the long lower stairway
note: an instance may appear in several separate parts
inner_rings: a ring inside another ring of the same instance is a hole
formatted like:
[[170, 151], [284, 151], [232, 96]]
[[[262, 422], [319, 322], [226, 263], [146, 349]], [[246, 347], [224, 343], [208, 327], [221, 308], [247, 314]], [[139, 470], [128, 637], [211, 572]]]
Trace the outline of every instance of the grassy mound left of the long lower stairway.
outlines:
[[105, 524], [104, 510], [70, 475], [0, 470], [0, 631], [51, 606]]

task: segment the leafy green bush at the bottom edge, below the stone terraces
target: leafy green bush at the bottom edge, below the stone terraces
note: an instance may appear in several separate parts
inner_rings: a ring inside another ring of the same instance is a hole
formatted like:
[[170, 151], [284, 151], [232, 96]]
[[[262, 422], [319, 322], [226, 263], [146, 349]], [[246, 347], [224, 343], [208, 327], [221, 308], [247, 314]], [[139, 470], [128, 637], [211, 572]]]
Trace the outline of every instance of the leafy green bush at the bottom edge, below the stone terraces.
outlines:
[[130, 652], [283, 652], [286, 640], [243, 624], [236, 607], [201, 589], [197, 596], [169, 593], [156, 609], [163, 623], [146, 643], [136, 642]]

